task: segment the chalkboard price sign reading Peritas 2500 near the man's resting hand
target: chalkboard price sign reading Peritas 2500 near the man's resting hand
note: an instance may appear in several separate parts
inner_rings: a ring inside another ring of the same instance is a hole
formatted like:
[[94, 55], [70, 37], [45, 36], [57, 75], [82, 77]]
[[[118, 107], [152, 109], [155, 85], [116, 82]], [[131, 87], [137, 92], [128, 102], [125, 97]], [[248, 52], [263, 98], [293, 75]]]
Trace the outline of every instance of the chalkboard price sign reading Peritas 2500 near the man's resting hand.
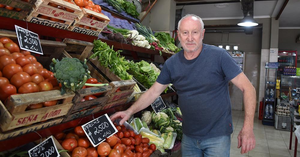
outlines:
[[107, 114], [96, 118], [81, 127], [94, 147], [103, 142], [105, 138], [109, 138], [118, 132]]

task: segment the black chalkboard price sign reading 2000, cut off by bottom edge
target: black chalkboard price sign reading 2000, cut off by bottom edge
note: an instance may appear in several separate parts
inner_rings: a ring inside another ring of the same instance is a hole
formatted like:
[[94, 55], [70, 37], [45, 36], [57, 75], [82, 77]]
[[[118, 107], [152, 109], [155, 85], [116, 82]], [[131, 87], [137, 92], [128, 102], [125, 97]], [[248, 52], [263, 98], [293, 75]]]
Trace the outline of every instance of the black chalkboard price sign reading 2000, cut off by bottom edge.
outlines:
[[50, 136], [39, 145], [28, 151], [30, 157], [59, 157], [58, 150], [54, 144], [53, 136]]

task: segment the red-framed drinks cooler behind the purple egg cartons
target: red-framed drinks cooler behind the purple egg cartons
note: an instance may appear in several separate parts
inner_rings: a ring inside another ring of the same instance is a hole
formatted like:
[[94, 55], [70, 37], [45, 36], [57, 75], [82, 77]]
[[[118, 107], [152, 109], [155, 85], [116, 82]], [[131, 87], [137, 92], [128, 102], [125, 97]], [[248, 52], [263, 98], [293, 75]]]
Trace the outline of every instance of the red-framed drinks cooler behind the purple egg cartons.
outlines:
[[278, 51], [277, 77], [283, 74], [284, 67], [297, 68], [297, 51]]

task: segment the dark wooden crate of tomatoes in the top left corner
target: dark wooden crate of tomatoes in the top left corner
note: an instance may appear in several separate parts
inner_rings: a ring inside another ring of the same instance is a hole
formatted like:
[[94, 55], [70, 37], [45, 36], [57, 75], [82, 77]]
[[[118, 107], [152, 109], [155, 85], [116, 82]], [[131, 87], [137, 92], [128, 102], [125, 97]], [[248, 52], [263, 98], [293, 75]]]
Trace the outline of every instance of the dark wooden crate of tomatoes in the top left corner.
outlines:
[[30, 0], [29, 2], [25, 2], [21, 0], [0, 0], [0, 4], [22, 9], [20, 11], [16, 11], [16, 10], [8, 10], [5, 8], [0, 8], [0, 16], [22, 20], [26, 18], [26, 16], [30, 13], [32, 7], [34, 6], [35, 1], [36, 0]]

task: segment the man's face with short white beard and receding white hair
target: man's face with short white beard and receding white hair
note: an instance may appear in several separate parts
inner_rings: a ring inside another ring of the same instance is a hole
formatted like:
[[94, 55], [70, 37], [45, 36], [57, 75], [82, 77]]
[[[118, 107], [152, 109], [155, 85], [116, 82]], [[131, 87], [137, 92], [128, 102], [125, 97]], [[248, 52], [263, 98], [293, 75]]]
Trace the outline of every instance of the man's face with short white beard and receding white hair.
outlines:
[[201, 48], [205, 29], [201, 30], [201, 23], [196, 17], [190, 16], [182, 20], [178, 39], [187, 53]]

